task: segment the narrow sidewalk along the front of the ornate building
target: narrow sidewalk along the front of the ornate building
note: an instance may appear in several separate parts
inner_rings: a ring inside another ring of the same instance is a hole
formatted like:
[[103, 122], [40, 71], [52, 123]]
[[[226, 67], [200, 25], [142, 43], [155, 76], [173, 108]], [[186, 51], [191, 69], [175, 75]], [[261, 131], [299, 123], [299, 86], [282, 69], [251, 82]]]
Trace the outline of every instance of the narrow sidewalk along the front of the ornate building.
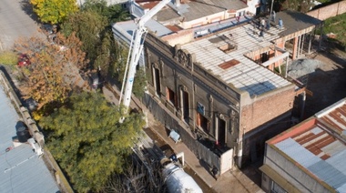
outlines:
[[[113, 91], [110, 91], [106, 86], [103, 89], [103, 92], [106, 98], [109, 101], [112, 101], [114, 104], [118, 104], [117, 95], [114, 96], [114, 92], [119, 93], [117, 88], [113, 86]], [[136, 100], [136, 99], [135, 99]], [[138, 101], [135, 102], [138, 104]], [[135, 103], [131, 103], [131, 107], [136, 107]], [[148, 127], [157, 134], [165, 143], [171, 147], [175, 153], [184, 152], [185, 164], [191, 168], [199, 178], [201, 178], [209, 188], [212, 188], [215, 192], [218, 193], [229, 193], [229, 192], [250, 192], [257, 193], [263, 192], [260, 187], [258, 187], [253, 181], [251, 181], [245, 174], [243, 174], [239, 169], [234, 168], [232, 171], [228, 171], [223, 174], [221, 177], [216, 180], [212, 177], [209, 172], [208, 167], [203, 167], [204, 164], [200, 161], [194, 153], [192, 153], [188, 147], [183, 143], [179, 142], [178, 144], [168, 137], [166, 128], [159, 123], [152, 114], [149, 113], [148, 109], [144, 106], [141, 106], [143, 112], [147, 113], [148, 117]]]

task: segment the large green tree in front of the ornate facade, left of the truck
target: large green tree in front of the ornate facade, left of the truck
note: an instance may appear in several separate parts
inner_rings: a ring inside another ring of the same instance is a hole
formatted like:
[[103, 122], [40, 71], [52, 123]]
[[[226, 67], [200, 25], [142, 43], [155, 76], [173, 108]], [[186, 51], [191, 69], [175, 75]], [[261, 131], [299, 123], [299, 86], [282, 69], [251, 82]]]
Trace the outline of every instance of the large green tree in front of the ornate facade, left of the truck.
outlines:
[[121, 172], [130, 147], [144, 126], [140, 115], [119, 123], [120, 110], [98, 93], [69, 97], [41, 126], [50, 131], [47, 147], [78, 192], [99, 191], [114, 172]]

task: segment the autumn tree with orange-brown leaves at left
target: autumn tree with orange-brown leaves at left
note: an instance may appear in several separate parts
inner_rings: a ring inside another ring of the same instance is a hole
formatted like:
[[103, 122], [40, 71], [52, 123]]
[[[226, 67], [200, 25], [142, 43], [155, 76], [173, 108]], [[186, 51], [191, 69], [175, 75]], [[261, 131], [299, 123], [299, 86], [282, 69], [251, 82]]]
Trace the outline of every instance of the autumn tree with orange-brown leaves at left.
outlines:
[[81, 41], [74, 33], [68, 37], [58, 33], [55, 42], [50, 44], [30, 37], [15, 43], [15, 51], [25, 53], [31, 62], [20, 68], [25, 74], [20, 87], [22, 95], [25, 99], [35, 99], [38, 108], [52, 102], [63, 103], [70, 91], [86, 86], [79, 74], [87, 66]]

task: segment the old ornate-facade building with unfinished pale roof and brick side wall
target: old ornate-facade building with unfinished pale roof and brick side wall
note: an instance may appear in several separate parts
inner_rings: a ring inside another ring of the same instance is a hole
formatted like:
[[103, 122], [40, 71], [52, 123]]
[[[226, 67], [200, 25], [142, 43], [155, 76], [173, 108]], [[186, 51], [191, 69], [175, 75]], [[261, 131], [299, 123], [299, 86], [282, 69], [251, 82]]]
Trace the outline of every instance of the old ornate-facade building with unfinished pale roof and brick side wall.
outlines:
[[[167, 10], [161, 12], [158, 15]], [[290, 125], [298, 89], [272, 69], [280, 64], [287, 68], [294, 50], [301, 52], [309, 41], [293, 42], [293, 52], [285, 43], [302, 32], [313, 33], [320, 22], [305, 15], [300, 20], [295, 12], [278, 16], [286, 25], [280, 29], [271, 22], [263, 36], [251, 15], [240, 22], [230, 19], [187, 29], [159, 19], [148, 25], [151, 32], [142, 56], [148, 92], [143, 103], [221, 174], [234, 164], [257, 160], [264, 141]], [[113, 25], [116, 39], [128, 44], [134, 27], [133, 21]]]

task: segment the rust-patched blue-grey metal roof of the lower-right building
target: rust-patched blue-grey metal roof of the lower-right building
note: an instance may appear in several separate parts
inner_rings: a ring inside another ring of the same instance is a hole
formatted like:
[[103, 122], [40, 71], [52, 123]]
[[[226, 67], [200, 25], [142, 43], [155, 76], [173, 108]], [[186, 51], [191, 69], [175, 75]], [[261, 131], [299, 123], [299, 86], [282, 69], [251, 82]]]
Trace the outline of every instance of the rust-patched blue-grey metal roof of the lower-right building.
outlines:
[[268, 142], [339, 192], [346, 192], [345, 102], [342, 99]]

